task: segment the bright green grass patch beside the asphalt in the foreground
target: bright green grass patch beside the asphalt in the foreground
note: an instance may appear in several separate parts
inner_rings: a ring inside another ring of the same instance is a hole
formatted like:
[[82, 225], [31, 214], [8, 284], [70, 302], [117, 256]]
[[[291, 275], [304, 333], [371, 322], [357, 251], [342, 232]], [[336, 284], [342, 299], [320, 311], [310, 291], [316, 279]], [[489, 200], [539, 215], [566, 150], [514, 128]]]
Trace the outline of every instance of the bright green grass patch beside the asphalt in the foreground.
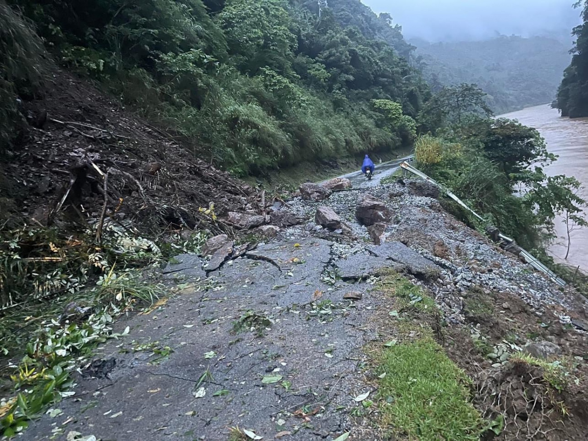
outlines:
[[470, 402], [471, 380], [430, 338], [385, 348], [380, 357], [382, 424], [420, 440], [479, 440], [485, 424]]

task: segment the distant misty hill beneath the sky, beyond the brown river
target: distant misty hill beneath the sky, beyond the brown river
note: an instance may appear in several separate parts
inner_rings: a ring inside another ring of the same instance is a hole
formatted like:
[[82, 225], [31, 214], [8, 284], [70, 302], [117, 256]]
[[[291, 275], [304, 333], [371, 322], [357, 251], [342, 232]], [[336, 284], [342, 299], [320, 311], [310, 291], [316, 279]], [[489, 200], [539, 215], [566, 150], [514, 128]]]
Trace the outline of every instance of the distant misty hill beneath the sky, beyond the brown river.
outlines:
[[488, 94], [488, 105], [497, 114], [552, 102], [570, 62], [568, 44], [545, 36], [412, 42], [433, 91], [445, 85], [476, 83]]

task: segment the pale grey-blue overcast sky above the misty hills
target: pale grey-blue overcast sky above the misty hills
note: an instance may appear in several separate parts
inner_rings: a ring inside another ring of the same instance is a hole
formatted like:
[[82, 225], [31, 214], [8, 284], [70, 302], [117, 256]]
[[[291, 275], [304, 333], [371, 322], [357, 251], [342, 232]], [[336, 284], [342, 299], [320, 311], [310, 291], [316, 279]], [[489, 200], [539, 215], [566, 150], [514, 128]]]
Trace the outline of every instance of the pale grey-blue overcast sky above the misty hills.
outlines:
[[503, 35], [569, 38], [580, 24], [574, 0], [361, 0], [376, 14], [388, 12], [405, 38], [476, 40]]

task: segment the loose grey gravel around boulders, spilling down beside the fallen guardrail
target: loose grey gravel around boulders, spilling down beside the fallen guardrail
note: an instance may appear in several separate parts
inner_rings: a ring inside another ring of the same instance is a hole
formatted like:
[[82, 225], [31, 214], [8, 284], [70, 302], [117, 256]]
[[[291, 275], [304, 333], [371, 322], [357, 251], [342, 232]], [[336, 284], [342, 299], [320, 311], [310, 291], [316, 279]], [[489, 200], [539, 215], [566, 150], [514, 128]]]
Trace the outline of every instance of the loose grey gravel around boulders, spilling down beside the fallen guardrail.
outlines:
[[[436, 199], [413, 195], [407, 186], [398, 183], [334, 192], [326, 201], [316, 203], [295, 198], [288, 202], [289, 209], [306, 222], [281, 230], [278, 239], [316, 236], [333, 240], [333, 233], [327, 233], [314, 222], [316, 208], [327, 205], [349, 224], [355, 236], [348, 243], [335, 243], [332, 258], [370, 255], [367, 246], [372, 244], [372, 240], [368, 229], [355, 219], [356, 202], [365, 192], [383, 201], [393, 213], [392, 223], [386, 229], [387, 240], [406, 243], [442, 269], [439, 278], [432, 282], [417, 279], [413, 282], [430, 290], [448, 322], [465, 322], [463, 295], [473, 287], [486, 293], [515, 294], [538, 316], [542, 315], [545, 305], [577, 309], [578, 300], [570, 288], [560, 288], [530, 265], [504, 252], [443, 211]], [[435, 243], [446, 247], [447, 256], [433, 253]], [[560, 321], [570, 323], [570, 318], [562, 313]]]

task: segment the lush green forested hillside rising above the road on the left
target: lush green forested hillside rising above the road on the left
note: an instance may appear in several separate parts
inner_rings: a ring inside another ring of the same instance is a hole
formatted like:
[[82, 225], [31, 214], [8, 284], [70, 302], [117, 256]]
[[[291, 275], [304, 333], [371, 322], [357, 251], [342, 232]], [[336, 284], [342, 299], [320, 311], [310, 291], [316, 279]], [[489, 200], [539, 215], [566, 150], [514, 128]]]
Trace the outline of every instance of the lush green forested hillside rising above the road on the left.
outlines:
[[[64, 68], [238, 174], [409, 144], [430, 95], [399, 28], [359, 0], [332, 0], [322, 11], [315, 0], [8, 5]], [[13, 74], [4, 90], [27, 93]], [[395, 103], [393, 112], [373, 99]], [[9, 123], [2, 131], [14, 135]]]

